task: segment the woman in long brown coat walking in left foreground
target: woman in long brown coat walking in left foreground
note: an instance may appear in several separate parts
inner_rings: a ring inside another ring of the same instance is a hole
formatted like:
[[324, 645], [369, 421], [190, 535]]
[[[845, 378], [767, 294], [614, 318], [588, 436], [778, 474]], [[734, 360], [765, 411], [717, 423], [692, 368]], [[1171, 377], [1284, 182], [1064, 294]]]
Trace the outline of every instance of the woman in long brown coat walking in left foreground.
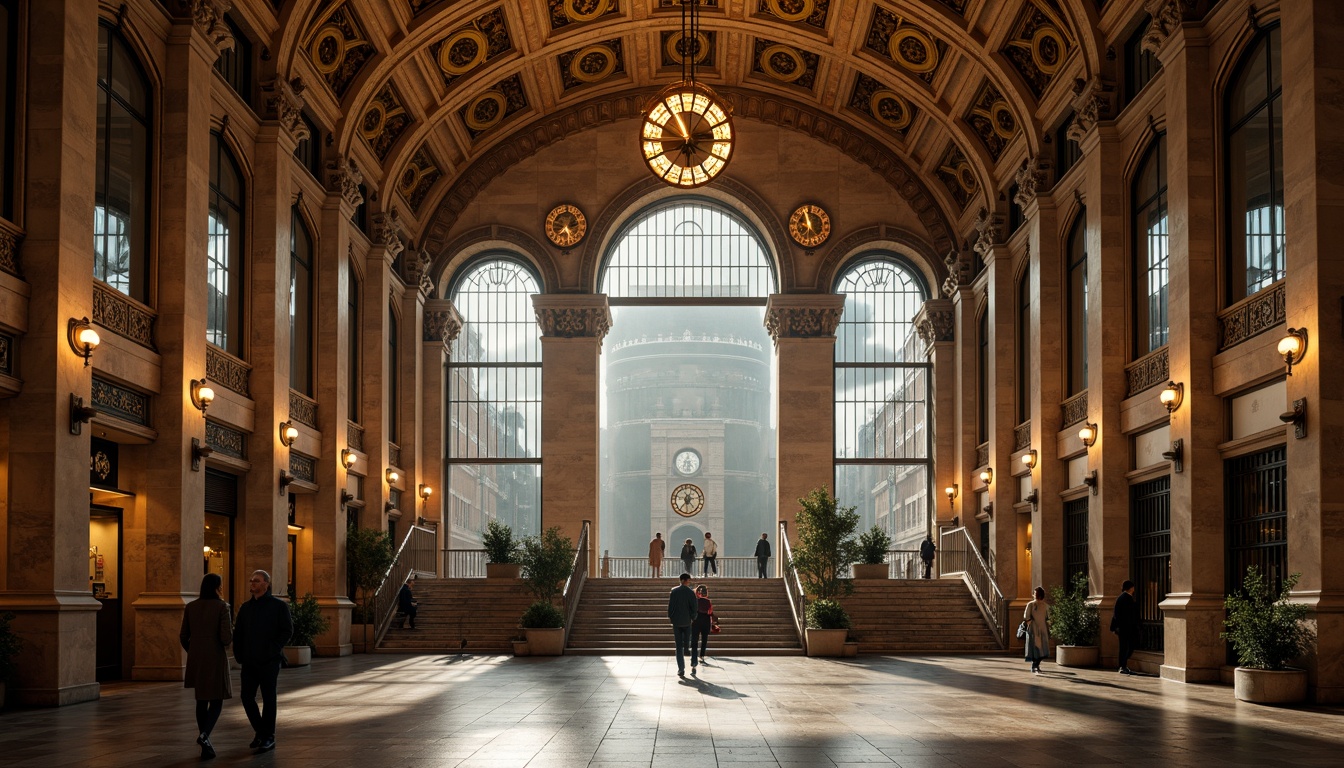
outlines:
[[228, 681], [228, 651], [224, 650], [234, 642], [234, 620], [224, 603], [223, 588], [224, 581], [218, 573], [207, 573], [200, 580], [200, 597], [183, 608], [181, 631], [177, 632], [181, 650], [187, 651], [181, 687], [196, 689], [196, 744], [203, 760], [215, 756], [210, 732], [219, 722], [224, 699], [234, 698]]

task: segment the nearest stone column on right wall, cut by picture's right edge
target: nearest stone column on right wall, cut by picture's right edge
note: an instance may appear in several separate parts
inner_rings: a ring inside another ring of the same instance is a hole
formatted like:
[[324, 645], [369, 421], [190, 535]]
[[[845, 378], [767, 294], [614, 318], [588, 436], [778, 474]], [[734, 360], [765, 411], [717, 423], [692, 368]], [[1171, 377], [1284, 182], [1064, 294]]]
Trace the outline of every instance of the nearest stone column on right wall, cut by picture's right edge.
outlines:
[[[1344, 469], [1337, 445], [1344, 405], [1339, 328], [1344, 264], [1344, 4], [1284, 4], [1284, 190], [1289, 328], [1305, 328], [1306, 354], [1288, 377], [1288, 402], [1306, 399], [1306, 437], [1288, 440], [1288, 564], [1302, 578], [1294, 599], [1316, 615], [1306, 659], [1313, 698], [1344, 701]], [[1289, 428], [1289, 434], [1293, 429]]]

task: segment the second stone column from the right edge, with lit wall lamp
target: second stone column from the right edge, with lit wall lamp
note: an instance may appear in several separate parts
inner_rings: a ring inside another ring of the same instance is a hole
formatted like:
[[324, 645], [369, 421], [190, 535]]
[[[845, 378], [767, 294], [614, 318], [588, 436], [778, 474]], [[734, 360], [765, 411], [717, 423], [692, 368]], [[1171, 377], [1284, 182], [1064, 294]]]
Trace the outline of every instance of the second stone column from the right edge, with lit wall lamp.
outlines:
[[[1156, 23], [1153, 24], [1157, 26]], [[1152, 34], [1149, 28], [1149, 34]], [[1223, 401], [1208, 364], [1218, 354], [1218, 210], [1208, 40], [1176, 26], [1160, 44], [1167, 86], [1167, 200], [1171, 222], [1169, 370], [1185, 387], [1171, 438], [1185, 444], [1185, 471], [1172, 473], [1171, 574], [1163, 601], [1164, 678], [1216, 681], [1226, 660], [1223, 624]], [[1105, 437], [1105, 433], [1102, 433]]]

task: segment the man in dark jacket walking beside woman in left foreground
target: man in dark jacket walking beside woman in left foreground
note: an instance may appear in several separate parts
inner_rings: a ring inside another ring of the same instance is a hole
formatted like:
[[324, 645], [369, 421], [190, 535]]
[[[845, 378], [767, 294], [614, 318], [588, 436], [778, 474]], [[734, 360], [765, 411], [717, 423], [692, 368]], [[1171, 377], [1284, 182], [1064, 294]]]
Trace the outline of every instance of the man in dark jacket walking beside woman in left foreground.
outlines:
[[[285, 643], [294, 633], [289, 605], [270, 593], [270, 574], [254, 570], [247, 578], [251, 600], [238, 609], [234, 625], [234, 658], [242, 664], [243, 710], [251, 722], [253, 749], [276, 748], [276, 698], [280, 667], [285, 662]], [[257, 710], [257, 689], [263, 709]]]

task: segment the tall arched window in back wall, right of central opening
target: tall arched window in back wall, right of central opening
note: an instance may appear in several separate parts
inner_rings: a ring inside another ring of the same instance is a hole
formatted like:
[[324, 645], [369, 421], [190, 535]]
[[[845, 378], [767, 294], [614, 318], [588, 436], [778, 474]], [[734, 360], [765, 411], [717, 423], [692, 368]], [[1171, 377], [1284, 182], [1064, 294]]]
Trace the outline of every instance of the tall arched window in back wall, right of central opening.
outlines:
[[929, 292], [892, 253], [866, 254], [835, 285], [844, 295], [836, 332], [836, 498], [860, 527], [887, 531], [895, 549], [929, 533], [929, 363], [914, 316]]

